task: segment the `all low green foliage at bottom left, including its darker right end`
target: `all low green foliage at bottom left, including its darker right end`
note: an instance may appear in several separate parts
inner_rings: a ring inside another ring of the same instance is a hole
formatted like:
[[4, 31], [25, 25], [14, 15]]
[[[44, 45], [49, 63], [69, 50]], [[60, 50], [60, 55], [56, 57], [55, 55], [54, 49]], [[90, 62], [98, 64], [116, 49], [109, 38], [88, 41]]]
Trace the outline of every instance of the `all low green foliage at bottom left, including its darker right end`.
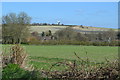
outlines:
[[3, 68], [2, 80], [39, 80], [42, 79], [37, 70], [28, 71], [19, 67], [18, 64], [8, 64]]

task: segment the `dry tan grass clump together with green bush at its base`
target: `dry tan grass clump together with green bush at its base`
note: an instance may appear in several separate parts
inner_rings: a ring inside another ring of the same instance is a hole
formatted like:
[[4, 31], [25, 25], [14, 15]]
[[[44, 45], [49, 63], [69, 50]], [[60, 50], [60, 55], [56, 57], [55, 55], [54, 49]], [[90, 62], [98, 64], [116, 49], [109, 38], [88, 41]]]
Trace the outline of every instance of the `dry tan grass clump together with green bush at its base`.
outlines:
[[32, 65], [27, 64], [27, 54], [23, 47], [14, 45], [8, 53], [10, 55], [2, 59], [2, 80], [38, 80], [41, 77]]

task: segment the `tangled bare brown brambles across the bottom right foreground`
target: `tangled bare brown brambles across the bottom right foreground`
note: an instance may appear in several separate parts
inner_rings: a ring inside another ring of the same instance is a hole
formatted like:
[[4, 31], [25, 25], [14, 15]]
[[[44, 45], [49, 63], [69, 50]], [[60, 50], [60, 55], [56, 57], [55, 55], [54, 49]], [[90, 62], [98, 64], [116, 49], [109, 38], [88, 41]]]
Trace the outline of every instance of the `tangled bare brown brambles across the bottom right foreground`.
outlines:
[[[77, 56], [76, 53], [75, 55]], [[79, 61], [65, 61], [53, 64], [50, 70], [61, 65], [68, 68], [62, 71], [45, 71], [46, 75], [48, 78], [60, 80], [120, 80], [118, 60], [110, 62], [106, 59], [106, 62], [96, 63], [90, 62], [88, 58], [85, 60], [79, 56], [77, 58]]]

